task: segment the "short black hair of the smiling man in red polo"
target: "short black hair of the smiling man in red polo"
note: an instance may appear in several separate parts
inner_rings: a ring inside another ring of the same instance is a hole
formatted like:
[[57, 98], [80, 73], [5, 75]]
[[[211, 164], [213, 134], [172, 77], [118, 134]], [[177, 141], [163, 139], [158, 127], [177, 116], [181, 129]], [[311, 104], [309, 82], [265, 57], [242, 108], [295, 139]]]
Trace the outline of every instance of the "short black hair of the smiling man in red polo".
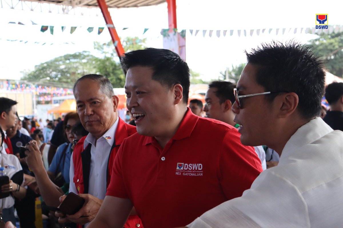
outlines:
[[183, 88], [183, 101], [188, 103], [189, 67], [175, 52], [156, 48], [132, 51], [125, 53], [121, 64], [125, 70], [135, 66], [152, 67], [152, 79], [168, 88], [180, 84]]

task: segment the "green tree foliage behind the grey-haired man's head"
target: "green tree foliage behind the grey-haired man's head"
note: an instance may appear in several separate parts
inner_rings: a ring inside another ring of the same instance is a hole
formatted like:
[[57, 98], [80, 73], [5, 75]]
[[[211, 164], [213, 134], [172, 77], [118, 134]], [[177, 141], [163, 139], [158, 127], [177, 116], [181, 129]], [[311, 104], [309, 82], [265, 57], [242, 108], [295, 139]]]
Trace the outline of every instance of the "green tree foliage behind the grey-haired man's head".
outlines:
[[[144, 49], [145, 41], [146, 39], [138, 37], [127, 37], [123, 39], [123, 48], [125, 51]], [[35, 66], [33, 71], [24, 71], [22, 80], [35, 82], [50, 77], [49, 83], [71, 88], [83, 75], [97, 73], [107, 77], [114, 88], [122, 88], [125, 84], [125, 75], [113, 42], [94, 42], [94, 49], [99, 52], [99, 57], [88, 51], [59, 56]]]

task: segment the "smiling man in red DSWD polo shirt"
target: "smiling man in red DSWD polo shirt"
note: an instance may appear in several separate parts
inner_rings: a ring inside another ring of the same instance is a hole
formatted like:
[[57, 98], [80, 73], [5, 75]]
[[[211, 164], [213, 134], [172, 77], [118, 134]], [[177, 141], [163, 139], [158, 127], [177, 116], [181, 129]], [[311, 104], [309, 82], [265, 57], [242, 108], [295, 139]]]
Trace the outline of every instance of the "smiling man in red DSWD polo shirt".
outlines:
[[149, 48], [126, 53], [122, 64], [138, 133], [121, 144], [89, 227], [120, 228], [132, 206], [145, 227], [186, 225], [241, 196], [262, 171], [261, 162], [234, 127], [187, 108], [187, 63], [169, 50]]

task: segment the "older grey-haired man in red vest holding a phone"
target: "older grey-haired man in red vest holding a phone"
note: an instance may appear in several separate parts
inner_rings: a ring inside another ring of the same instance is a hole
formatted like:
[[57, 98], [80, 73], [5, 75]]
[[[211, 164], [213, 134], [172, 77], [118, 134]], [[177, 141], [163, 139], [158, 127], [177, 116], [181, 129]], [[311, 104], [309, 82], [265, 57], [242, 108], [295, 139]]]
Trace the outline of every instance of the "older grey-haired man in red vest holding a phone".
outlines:
[[[90, 132], [76, 144], [70, 161], [70, 189], [85, 199], [74, 215], [61, 216], [59, 222], [87, 226], [97, 214], [111, 177], [117, 150], [123, 139], [134, 134], [134, 126], [118, 117], [118, 97], [111, 82], [102, 75], [85, 75], [74, 84], [74, 96], [80, 120]], [[64, 198], [63, 198], [64, 199]], [[61, 199], [62, 200], [62, 199]], [[143, 227], [137, 215], [129, 217], [125, 227]]]

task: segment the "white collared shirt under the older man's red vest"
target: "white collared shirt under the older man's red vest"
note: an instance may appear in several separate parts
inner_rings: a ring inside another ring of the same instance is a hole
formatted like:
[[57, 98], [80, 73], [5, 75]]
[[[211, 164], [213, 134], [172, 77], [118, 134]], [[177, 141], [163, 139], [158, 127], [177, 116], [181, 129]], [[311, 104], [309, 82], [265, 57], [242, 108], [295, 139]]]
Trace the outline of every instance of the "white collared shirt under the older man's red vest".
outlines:
[[[89, 175], [89, 186], [88, 194], [95, 196], [96, 198], [103, 200], [106, 195], [107, 189], [107, 162], [108, 157], [111, 151], [111, 147], [114, 143], [115, 132], [117, 130], [119, 118], [111, 126], [110, 129], [98, 140], [96, 140], [95, 146], [95, 137], [89, 133], [84, 141], [83, 148], [86, 148], [88, 144], [92, 144], [91, 147], [91, 167]], [[109, 138], [110, 137], [110, 138]], [[70, 159], [70, 185], [69, 192], [74, 192], [77, 194], [74, 179], [74, 162], [73, 156]], [[85, 224], [85, 227], [88, 225]]]

